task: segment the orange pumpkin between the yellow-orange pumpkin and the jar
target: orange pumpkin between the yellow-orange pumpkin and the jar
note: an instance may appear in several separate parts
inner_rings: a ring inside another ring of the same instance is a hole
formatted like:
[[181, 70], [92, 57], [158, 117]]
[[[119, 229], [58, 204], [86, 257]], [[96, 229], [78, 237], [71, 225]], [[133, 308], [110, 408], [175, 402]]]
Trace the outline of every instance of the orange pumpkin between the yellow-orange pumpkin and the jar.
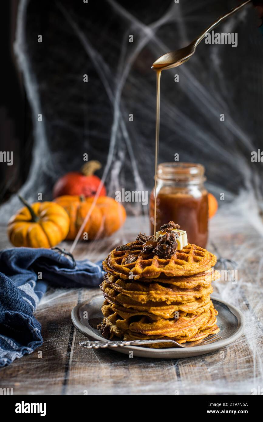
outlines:
[[95, 205], [94, 198], [84, 196], [64, 195], [54, 202], [61, 205], [70, 217], [70, 228], [67, 240], [74, 240], [85, 217], [90, 212], [89, 219], [83, 227], [83, 233], [88, 239], [103, 238], [119, 230], [126, 219], [125, 208], [119, 202], [108, 196], [98, 197]]

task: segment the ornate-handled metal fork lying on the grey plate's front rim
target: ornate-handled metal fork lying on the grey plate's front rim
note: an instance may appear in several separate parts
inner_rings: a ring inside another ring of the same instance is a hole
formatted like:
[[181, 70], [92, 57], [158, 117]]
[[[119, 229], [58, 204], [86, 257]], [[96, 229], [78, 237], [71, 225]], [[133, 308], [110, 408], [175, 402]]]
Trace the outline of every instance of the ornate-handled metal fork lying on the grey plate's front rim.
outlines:
[[158, 339], [158, 340], [117, 340], [117, 341], [98, 341], [98, 340], [86, 340], [81, 341], [79, 343], [80, 346], [85, 347], [86, 349], [105, 349], [108, 346], [111, 347], [123, 347], [123, 346], [140, 346], [140, 345], [146, 345], [146, 344], [155, 344], [155, 343], [174, 343], [176, 346], [187, 348], [187, 347], [194, 347], [194, 346], [204, 346], [206, 344], [214, 343], [217, 340], [220, 340], [222, 336], [217, 334], [211, 334], [204, 338], [203, 340], [197, 340], [197, 341], [190, 341], [188, 343], [180, 344], [177, 343], [175, 340], [170, 339]]

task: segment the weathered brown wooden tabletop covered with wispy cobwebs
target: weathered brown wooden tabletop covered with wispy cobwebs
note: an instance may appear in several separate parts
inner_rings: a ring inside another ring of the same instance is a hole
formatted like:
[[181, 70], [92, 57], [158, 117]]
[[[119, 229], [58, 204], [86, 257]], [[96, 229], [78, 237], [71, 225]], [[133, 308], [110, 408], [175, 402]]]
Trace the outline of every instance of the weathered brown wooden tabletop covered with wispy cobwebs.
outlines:
[[[253, 221], [252, 221], [253, 222]], [[138, 229], [136, 229], [138, 227]], [[79, 243], [76, 259], [96, 261], [141, 230], [148, 220], [130, 217], [111, 239]], [[1, 249], [9, 247], [1, 228]], [[246, 321], [245, 334], [234, 344], [211, 354], [187, 359], [129, 358], [108, 350], [79, 347], [85, 339], [70, 319], [72, 308], [100, 294], [95, 289], [49, 289], [35, 317], [41, 322], [43, 346], [0, 370], [0, 387], [14, 394], [251, 394], [263, 388], [263, 238], [240, 214], [225, 207], [211, 220], [208, 249], [238, 263], [237, 284], [217, 281], [214, 292], [237, 306]], [[247, 240], [248, 239], [248, 240]], [[63, 243], [66, 249], [70, 244]], [[42, 353], [39, 353], [42, 352]]]

